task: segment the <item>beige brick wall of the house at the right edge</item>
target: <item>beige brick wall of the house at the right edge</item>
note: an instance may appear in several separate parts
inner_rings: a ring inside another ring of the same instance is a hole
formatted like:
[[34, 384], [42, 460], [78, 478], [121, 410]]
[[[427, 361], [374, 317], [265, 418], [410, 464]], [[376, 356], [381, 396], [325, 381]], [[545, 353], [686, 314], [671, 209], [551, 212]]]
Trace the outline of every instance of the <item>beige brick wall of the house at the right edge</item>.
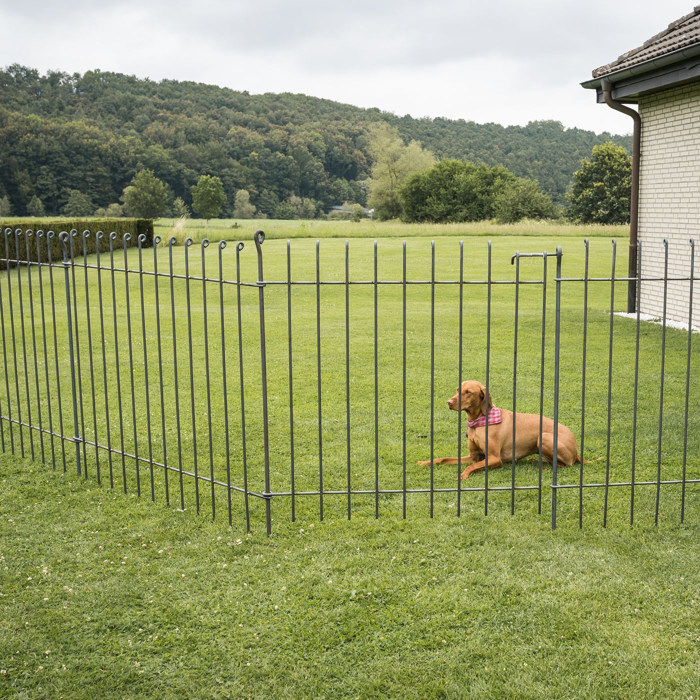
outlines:
[[[695, 275], [700, 276], [700, 83], [641, 97], [642, 145], [639, 238], [642, 275], [688, 276], [689, 239], [696, 239]], [[700, 281], [694, 283], [693, 325], [700, 326]], [[687, 323], [689, 283], [668, 283], [666, 318]], [[661, 316], [662, 282], [643, 282], [641, 311]]]

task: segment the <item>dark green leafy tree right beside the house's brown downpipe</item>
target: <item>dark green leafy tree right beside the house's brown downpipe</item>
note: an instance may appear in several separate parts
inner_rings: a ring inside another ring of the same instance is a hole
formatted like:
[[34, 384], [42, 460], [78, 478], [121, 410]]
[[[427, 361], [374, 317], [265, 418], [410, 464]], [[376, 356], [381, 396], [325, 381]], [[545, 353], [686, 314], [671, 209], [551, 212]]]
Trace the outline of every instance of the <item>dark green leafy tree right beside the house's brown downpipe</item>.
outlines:
[[568, 195], [568, 216], [581, 223], [629, 223], [632, 159], [612, 141], [581, 161]]

